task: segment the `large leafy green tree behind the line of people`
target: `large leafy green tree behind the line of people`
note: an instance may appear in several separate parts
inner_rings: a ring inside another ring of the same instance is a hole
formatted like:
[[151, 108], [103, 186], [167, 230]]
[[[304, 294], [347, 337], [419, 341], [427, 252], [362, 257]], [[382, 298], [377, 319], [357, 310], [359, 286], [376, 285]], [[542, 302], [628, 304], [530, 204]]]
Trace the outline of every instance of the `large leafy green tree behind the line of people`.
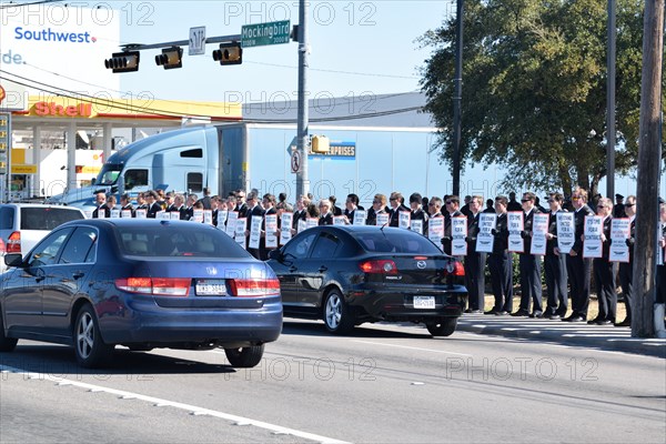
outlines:
[[[512, 188], [597, 193], [606, 175], [606, 3], [465, 0], [462, 164], [502, 165]], [[637, 162], [642, 38], [643, 1], [617, 0], [618, 174]], [[421, 43], [434, 48], [422, 70], [425, 111], [451, 164], [455, 17]]]

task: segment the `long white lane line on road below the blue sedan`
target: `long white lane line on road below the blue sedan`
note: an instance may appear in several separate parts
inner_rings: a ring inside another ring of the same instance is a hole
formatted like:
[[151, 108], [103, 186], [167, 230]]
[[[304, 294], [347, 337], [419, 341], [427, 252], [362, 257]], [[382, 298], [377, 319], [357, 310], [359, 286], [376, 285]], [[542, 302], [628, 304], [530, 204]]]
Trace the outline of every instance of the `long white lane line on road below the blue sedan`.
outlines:
[[213, 417], [219, 417], [221, 420], [231, 421], [235, 424], [254, 425], [255, 427], [269, 430], [269, 431], [273, 432], [274, 434], [293, 435], [296, 437], [301, 437], [301, 438], [310, 440], [310, 441], [316, 441], [320, 443], [350, 444], [346, 441], [334, 440], [334, 438], [327, 437], [327, 436], [315, 435], [313, 433], [302, 432], [302, 431], [297, 431], [297, 430], [289, 428], [289, 427], [282, 427], [280, 425], [265, 423], [263, 421], [251, 420], [251, 418], [243, 417], [243, 416], [236, 416], [236, 415], [232, 415], [229, 413], [218, 412], [218, 411], [210, 410], [210, 408], [198, 407], [195, 405], [183, 404], [183, 403], [179, 403], [179, 402], [174, 402], [174, 401], [162, 400], [159, 397], [145, 396], [145, 395], [141, 395], [139, 393], [127, 392], [123, 390], [109, 389], [109, 387], [104, 387], [101, 385], [94, 385], [94, 384], [88, 384], [84, 382], [72, 381], [72, 380], [68, 380], [65, 377], [54, 377], [52, 375], [48, 375], [44, 373], [27, 372], [22, 369], [16, 369], [16, 367], [1, 365], [1, 364], [0, 364], [0, 371], [23, 374], [29, 379], [36, 379], [36, 380], [39, 379], [41, 381], [44, 381], [44, 380], [51, 381], [51, 382], [57, 383], [58, 385], [63, 385], [63, 386], [74, 385], [77, 387], [87, 389], [91, 392], [104, 392], [104, 393], [109, 393], [112, 395], [117, 395], [123, 400], [140, 400], [140, 401], [151, 403], [154, 406], [170, 406], [170, 407], [174, 407], [174, 408], [180, 408], [180, 410], [184, 410], [184, 411], [189, 412], [192, 415], [209, 415], [209, 416], [213, 416]]

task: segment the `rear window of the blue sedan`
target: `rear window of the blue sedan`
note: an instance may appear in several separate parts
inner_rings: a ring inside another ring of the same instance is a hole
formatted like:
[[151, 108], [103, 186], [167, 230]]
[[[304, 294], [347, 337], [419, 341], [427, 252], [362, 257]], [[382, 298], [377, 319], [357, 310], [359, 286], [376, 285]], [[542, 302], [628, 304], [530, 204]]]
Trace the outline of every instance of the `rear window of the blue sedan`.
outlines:
[[120, 249], [127, 255], [170, 258], [250, 258], [229, 235], [201, 226], [119, 226]]

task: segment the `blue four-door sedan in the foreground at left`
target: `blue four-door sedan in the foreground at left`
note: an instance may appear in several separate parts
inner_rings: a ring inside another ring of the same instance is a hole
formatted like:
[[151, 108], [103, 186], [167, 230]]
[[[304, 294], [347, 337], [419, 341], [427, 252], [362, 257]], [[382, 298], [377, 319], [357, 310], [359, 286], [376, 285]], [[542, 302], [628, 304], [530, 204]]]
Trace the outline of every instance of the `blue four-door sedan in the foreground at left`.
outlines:
[[73, 345], [84, 367], [115, 345], [209, 350], [251, 367], [282, 331], [280, 283], [222, 231], [137, 219], [60, 225], [0, 278], [0, 352], [19, 339]]

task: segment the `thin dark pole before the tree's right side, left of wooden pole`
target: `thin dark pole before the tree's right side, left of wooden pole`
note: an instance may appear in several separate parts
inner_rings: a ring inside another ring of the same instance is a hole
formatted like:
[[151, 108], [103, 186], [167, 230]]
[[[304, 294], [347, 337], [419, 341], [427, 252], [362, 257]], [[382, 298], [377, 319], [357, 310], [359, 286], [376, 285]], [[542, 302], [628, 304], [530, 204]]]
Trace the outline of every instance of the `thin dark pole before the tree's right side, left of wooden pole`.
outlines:
[[608, 42], [606, 54], [606, 198], [615, 195], [615, 2], [608, 0]]

